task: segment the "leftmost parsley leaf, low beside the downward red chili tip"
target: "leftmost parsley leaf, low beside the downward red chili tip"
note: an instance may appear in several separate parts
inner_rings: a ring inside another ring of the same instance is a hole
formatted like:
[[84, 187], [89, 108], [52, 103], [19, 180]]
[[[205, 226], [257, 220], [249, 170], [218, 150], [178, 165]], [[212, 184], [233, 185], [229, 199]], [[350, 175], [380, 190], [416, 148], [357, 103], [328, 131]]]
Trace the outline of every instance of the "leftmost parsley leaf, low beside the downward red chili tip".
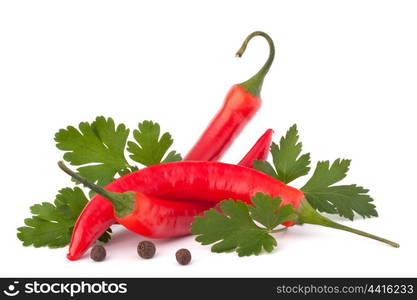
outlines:
[[75, 187], [58, 192], [54, 204], [43, 202], [33, 205], [34, 215], [25, 219], [17, 237], [24, 246], [59, 248], [68, 245], [72, 228], [88, 200], [83, 191]]

